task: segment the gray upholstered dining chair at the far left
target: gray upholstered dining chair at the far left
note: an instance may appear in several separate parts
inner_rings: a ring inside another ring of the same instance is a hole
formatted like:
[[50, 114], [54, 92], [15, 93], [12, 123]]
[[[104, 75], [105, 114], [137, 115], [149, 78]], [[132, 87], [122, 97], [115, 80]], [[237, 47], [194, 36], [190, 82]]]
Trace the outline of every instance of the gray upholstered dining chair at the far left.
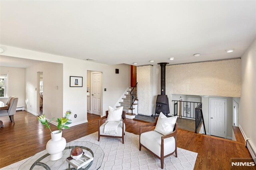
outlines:
[[9, 103], [7, 104], [9, 106], [9, 109], [0, 110], [0, 117], [9, 116], [11, 122], [15, 123], [14, 114], [16, 113], [17, 104], [18, 104], [18, 97], [11, 97]]

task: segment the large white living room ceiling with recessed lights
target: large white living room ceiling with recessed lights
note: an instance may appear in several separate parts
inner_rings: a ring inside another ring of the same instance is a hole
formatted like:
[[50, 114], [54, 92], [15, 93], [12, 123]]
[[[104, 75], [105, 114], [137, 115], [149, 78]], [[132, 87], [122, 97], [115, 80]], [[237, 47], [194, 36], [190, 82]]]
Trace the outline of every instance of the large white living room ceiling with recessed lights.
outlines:
[[0, 3], [2, 45], [106, 64], [241, 57], [256, 38], [256, 1]]

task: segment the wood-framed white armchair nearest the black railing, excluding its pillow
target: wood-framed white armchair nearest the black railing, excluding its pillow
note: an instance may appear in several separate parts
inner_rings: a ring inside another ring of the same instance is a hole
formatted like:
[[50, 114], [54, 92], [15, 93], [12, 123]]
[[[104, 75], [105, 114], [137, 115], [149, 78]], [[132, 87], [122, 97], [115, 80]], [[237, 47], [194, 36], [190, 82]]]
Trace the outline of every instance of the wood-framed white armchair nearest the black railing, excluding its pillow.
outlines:
[[170, 134], [163, 135], [156, 132], [154, 129], [156, 127], [158, 117], [156, 117], [155, 123], [148, 123], [146, 125], [140, 126], [140, 144], [146, 150], [150, 151], [154, 156], [160, 159], [161, 168], [164, 168], [164, 158], [174, 154], [177, 157], [177, 128], [178, 123], [175, 124], [173, 132]]

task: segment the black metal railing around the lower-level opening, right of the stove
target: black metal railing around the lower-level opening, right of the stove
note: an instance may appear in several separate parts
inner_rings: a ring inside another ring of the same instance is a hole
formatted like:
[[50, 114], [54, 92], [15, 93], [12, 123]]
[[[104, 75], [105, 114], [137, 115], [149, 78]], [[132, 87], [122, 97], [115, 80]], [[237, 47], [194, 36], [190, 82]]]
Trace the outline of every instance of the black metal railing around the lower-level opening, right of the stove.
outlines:
[[[193, 101], [177, 101], [172, 100], [174, 102], [174, 116], [178, 117], [186, 117], [190, 119], [195, 119], [195, 133], [197, 133], [197, 128], [200, 126], [202, 122], [204, 125], [204, 117], [202, 113], [202, 103], [193, 102]], [[205, 125], [204, 125], [204, 133]]]

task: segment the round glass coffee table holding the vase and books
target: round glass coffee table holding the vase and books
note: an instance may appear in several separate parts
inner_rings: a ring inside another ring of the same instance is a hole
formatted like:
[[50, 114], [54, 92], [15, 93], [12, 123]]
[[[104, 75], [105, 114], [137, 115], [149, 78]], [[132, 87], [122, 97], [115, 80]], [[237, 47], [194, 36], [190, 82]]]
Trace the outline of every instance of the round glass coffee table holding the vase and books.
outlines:
[[50, 160], [50, 154], [46, 150], [39, 152], [22, 164], [19, 170], [75, 170], [66, 158], [70, 156], [70, 152], [74, 147], [81, 147], [83, 151], [88, 152], [93, 156], [93, 161], [90, 164], [80, 168], [80, 170], [97, 170], [102, 164], [104, 152], [99, 145], [92, 142], [69, 142], [63, 150], [63, 156], [59, 160]]

